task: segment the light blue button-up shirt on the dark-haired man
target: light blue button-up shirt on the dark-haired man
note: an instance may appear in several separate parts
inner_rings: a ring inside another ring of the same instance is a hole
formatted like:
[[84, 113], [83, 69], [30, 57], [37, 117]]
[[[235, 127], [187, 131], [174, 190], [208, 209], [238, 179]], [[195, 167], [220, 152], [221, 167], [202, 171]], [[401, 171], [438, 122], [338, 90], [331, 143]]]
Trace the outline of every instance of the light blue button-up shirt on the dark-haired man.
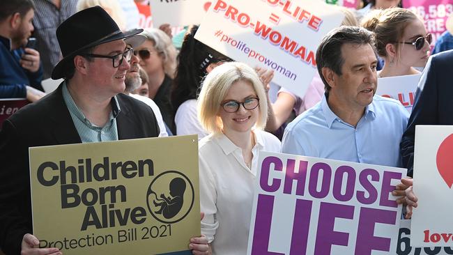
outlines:
[[282, 152], [401, 167], [399, 142], [408, 117], [400, 102], [375, 95], [354, 127], [335, 115], [324, 95], [286, 127]]

